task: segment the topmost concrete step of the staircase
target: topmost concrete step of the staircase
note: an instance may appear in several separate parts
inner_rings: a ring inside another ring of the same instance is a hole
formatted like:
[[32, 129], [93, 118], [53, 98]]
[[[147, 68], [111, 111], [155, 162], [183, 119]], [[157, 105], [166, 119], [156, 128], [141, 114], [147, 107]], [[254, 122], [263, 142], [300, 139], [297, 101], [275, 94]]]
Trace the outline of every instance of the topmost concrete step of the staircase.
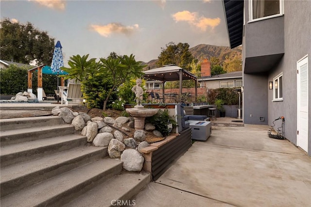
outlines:
[[0, 119], [0, 130], [4, 131], [36, 126], [51, 126], [61, 123], [64, 123], [64, 121], [58, 116]]

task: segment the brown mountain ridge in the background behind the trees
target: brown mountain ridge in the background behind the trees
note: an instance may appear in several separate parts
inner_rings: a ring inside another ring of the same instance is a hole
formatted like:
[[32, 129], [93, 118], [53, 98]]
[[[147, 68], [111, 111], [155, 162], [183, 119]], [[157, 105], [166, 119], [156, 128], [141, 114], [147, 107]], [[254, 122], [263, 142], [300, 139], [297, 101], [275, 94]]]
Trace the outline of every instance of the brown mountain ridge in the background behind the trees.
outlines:
[[[189, 51], [191, 52], [193, 57], [198, 59], [200, 62], [202, 62], [202, 60], [205, 58], [210, 59], [210, 57], [218, 57], [221, 61], [224, 61], [227, 55], [229, 59], [237, 57], [242, 60], [242, 46], [230, 49], [230, 47], [225, 46], [200, 44], [193, 48], [190, 48]], [[157, 59], [150, 60], [148, 63], [144, 63], [145, 65], [148, 65], [148, 67], [146, 67], [145, 69], [157, 68], [156, 61]]]

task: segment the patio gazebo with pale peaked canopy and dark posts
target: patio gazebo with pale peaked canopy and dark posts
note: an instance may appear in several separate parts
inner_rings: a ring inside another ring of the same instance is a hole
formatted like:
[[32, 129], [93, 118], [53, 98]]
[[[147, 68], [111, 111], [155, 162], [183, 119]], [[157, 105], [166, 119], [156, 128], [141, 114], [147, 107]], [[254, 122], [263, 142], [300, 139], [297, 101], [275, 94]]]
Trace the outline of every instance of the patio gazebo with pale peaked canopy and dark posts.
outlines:
[[195, 101], [197, 99], [197, 77], [190, 73], [186, 69], [182, 69], [175, 65], [165, 65], [161, 68], [156, 69], [150, 69], [144, 71], [145, 80], [157, 80], [162, 82], [162, 93], [164, 94], [165, 88], [164, 84], [167, 81], [179, 81], [179, 97], [182, 96], [183, 93], [183, 87], [182, 87], [182, 81], [183, 80], [194, 80], [195, 81]]

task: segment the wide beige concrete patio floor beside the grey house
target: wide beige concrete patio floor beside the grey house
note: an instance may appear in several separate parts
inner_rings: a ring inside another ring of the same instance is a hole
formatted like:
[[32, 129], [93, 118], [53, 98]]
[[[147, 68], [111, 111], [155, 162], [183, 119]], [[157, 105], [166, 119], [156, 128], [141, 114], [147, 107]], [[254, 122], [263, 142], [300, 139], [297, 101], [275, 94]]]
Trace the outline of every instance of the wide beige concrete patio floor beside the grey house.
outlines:
[[269, 138], [266, 125], [212, 128], [207, 141], [193, 143], [132, 198], [136, 206], [311, 206], [311, 158], [304, 151]]

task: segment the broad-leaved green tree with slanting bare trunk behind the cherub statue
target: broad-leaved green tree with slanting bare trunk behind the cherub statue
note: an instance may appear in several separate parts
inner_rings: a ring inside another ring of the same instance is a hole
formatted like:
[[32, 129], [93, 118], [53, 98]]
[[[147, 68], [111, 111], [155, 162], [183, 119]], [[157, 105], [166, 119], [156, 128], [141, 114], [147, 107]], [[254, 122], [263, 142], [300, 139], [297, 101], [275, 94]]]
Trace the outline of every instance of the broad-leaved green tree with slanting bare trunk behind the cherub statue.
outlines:
[[113, 80], [113, 86], [110, 88], [106, 99], [104, 100], [103, 110], [106, 110], [106, 105], [109, 96], [112, 92], [125, 81], [129, 81], [132, 77], [140, 77], [143, 75], [142, 69], [145, 67], [141, 61], [136, 62], [135, 55], [118, 56], [118, 59], [108, 57], [107, 59], [100, 58], [103, 68], [100, 72], [109, 75]]

